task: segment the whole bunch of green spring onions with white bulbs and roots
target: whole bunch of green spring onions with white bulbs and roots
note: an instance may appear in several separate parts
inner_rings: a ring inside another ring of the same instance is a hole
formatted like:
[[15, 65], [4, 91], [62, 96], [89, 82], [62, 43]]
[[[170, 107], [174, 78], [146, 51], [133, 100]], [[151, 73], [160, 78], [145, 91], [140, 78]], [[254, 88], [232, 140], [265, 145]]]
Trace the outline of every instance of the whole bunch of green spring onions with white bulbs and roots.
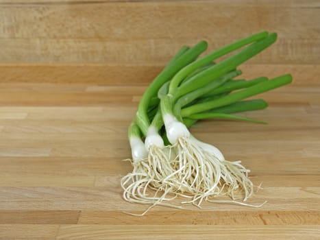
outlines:
[[[197, 140], [188, 128], [214, 118], [262, 123], [233, 114], [266, 108], [263, 99], [245, 99], [289, 84], [291, 75], [271, 80], [234, 78], [241, 75], [240, 64], [276, 38], [275, 33], [260, 32], [197, 59], [207, 48], [201, 41], [175, 54], [143, 94], [129, 127], [133, 170], [121, 179], [125, 200], [149, 204], [143, 214], [156, 205], [182, 208], [182, 204], [200, 206], [204, 201], [251, 206], [245, 204], [254, 193], [249, 169], [241, 161], [225, 160], [217, 147]], [[219, 200], [220, 195], [230, 200]], [[242, 201], [236, 200], [239, 195]], [[171, 203], [176, 197], [181, 204]]]

